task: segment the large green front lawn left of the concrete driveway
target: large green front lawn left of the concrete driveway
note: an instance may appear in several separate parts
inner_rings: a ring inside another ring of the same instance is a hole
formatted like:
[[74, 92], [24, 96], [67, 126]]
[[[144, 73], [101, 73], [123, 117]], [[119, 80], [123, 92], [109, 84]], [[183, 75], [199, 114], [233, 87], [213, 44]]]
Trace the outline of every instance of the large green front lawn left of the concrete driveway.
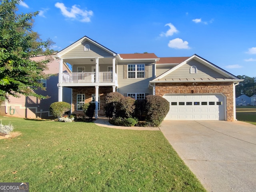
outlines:
[[206, 191], [160, 131], [0, 118], [22, 132], [0, 140], [0, 182], [38, 192]]

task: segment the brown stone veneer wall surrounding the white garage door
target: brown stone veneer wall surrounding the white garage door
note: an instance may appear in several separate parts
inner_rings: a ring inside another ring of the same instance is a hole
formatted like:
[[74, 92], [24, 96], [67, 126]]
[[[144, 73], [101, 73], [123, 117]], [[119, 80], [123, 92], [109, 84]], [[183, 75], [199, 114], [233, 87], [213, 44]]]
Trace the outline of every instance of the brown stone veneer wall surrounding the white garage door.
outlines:
[[222, 93], [226, 96], [227, 121], [234, 121], [233, 83], [156, 83], [156, 95]]

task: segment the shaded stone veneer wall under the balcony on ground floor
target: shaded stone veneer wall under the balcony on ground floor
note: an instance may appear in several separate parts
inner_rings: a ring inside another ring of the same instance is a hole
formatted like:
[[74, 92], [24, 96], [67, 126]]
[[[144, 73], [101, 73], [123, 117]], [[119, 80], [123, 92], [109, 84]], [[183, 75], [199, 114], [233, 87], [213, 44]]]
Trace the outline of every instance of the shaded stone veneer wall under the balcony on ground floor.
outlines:
[[[104, 105], [105, 105], [105, 96], [106, 94], [112, 92], [112, 87], [99, 87], [100, 95], [100, 110], [98, 111], [98, 116], [105, 116]], [[84, 116], [83, 111], [76, 110], [76, 98], [77, 94], [85, 94], [85, 102], [92, 102], [92, 94], [95, 94], [95, 87], [76, 87], [72, 89], [72, 113], [77, 114], [78, 116]]]

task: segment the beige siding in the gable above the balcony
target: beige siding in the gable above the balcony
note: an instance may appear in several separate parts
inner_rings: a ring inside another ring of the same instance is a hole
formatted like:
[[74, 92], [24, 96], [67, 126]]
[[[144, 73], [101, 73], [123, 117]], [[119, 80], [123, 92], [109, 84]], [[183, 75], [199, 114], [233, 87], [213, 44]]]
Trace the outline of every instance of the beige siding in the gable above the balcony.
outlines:
[[[90, 45], [89, 51], [84, 51], [84, 45]], [[76, 48], [70, 50], [62, 58], [82, 58], [82, 57], [111, 57], [113, 56], [109, 52], [106, 52], [102, 48], [86, 41], [78, 45]]]

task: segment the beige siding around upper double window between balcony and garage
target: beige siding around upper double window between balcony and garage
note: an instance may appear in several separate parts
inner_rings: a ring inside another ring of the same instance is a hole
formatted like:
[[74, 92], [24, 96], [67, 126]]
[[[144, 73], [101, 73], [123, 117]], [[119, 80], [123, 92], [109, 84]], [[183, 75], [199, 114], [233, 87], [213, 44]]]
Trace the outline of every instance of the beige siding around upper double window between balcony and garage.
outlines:
[[[117, 74], [118, 74], [118, 92], [122, 95], [127, 93], [148, 93], [152, 94], [152, 88], [148, 88], [150, 80], [153, 80], [154, 65], [148, 65], [148, 78], [124, 78], [124, 65], [132, 63], [118, 63]], [[134, 63], [134, 64], [145, 64], [147, 63]], [[146, 68], [146, 67], [145, 67]], [[146, 76], [146, 73], [145, 73]]]

